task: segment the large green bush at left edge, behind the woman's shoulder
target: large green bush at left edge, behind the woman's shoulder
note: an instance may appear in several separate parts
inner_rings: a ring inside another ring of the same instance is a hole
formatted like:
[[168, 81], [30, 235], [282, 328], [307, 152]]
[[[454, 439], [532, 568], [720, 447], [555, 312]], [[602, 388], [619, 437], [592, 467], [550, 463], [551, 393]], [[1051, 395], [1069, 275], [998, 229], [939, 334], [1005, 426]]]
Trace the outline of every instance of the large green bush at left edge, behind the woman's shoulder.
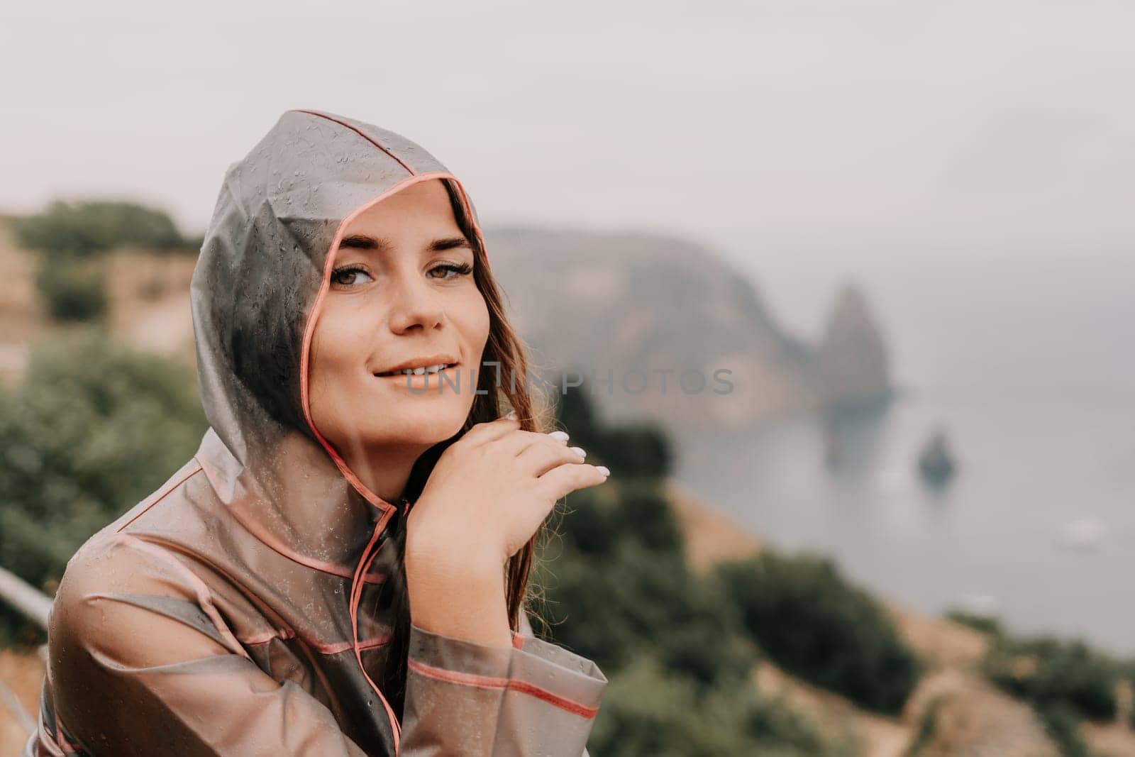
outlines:
[[188, 370], [94, 327], [53, 334], [0, 393], [0, 565], [53, 592], [74, 550], [185, 464], [205, 426]]

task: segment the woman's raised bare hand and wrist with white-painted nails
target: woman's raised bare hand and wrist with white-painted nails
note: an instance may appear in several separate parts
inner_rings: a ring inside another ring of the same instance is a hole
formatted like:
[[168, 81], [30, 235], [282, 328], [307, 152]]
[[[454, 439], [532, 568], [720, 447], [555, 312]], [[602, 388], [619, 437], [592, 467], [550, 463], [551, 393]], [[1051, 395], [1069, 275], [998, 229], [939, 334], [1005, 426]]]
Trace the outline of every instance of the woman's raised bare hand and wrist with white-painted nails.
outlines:
[[406, 518], [406, 583], [419, 626], [511, 642], [504, 563], [556, 501], [607, 480], [585, 454], [566, 434], [523, 431], [512, 418], [478, 423], [442, 454]]

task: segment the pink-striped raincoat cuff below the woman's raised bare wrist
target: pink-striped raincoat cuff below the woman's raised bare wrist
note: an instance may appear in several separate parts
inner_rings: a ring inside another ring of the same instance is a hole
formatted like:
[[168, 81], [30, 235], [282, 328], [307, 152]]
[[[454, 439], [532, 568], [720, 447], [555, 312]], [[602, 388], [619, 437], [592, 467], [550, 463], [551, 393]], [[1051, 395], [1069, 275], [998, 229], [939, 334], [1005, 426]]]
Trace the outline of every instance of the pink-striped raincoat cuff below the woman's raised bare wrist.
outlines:
[[607, 679], [521, 619], [511, 648], [411, 624], [400, 754], [586, 757]]

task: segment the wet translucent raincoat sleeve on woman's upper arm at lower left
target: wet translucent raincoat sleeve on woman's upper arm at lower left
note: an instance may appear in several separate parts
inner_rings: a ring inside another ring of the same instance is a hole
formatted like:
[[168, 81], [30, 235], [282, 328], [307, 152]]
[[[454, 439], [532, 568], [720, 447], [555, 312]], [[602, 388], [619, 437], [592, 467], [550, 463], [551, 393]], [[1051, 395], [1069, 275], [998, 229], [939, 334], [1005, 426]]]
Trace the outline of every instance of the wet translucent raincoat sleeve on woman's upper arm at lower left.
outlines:
[[73, 557], [57, 594], [51, 740], [96, 756], [365, 756], [322, 703], [252, 662], [171, 550], [114, 538]]

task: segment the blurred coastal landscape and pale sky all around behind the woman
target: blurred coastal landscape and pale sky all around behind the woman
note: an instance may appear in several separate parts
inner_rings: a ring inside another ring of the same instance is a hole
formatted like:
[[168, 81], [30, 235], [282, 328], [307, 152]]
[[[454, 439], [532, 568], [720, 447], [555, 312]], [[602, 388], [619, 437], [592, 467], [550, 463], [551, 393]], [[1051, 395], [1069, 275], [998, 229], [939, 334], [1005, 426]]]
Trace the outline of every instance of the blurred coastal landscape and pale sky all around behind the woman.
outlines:
[[289, 108], [462, 178], [614, 471], [540, 574], [592, 755], [1135, 755], [1130, 3], [2, 14], [0, 755], [15, 578], [196, 448], [194, 256]]

